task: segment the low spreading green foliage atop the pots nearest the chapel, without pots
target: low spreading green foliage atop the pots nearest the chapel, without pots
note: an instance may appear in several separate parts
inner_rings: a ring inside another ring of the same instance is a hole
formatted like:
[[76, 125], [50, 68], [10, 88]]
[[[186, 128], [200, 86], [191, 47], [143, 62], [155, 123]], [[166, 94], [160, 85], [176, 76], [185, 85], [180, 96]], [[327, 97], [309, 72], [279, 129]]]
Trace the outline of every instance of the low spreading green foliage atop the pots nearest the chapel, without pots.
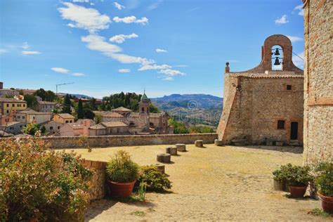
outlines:
[[310, 175], [310, 167], [294, 166], [287, 164], [281, 166], [280, 170], [273, 172], [274, 178], [279, 181], [285, 181], [287, 185], [303, 186], [308, 185], [308, 182], [313, 181], [313, 176]]

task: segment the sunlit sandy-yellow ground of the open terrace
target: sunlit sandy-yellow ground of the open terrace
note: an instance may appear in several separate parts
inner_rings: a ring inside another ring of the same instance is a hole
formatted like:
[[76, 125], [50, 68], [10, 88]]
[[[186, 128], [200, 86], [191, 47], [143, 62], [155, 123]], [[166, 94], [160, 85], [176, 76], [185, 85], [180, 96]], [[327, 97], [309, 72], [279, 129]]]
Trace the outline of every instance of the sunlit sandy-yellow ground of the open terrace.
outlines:
[[[75, 151], [104, 160], [127, 150], [138, 164], [155, 164], [167, 145], [93, 148]], [[147, 193], [146, 202], [93, 202], [86, 221], [329, 221], [308, 211], [320, 208], [309, 198], [294, 200], [272, 189], [272, 171], [281, 164], [302, 164], [302, 148], [217, 147], [205, 145], [178, 152], [166, 164], [171, 193]]]

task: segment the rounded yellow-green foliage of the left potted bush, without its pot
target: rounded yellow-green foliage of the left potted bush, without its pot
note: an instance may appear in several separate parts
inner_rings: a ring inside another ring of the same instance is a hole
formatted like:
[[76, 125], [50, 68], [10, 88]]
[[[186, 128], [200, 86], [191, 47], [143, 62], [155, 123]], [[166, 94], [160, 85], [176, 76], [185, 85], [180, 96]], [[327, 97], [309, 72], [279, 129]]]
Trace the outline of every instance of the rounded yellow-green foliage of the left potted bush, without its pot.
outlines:
[[129, 183], [138, 178], [138, 164], [131, 161], [129, 153], [124, 150], [117, 151], [106, 171], [110, 180], [117, 183]]

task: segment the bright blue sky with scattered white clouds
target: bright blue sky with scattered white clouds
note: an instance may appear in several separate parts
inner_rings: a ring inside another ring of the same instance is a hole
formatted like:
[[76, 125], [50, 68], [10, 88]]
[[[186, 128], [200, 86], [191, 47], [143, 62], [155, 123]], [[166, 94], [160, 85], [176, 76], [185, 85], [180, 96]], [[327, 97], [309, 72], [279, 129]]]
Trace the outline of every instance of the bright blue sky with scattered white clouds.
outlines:
[[[260, 63], [271, 34], [303, 56], [300, 0], [0, 1], [0, 81], [96, 98], [223, 96], [223, 72]], [[303, 61], [294, 57], [303, 68]]]

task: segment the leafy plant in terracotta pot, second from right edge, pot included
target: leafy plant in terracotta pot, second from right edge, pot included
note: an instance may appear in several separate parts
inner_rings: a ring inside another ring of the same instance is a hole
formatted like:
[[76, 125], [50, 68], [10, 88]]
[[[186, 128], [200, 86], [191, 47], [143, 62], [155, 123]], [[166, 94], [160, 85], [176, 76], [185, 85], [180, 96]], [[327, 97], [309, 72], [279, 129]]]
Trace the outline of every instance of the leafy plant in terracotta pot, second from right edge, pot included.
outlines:
[[286, 168], [286, 183], [289, 186], [289, 192], [292, 197], [303, 197], [308, 182], [313, 180], [310, 175], [310, 167], [308, 166], [293, 166], [287, 164]]

